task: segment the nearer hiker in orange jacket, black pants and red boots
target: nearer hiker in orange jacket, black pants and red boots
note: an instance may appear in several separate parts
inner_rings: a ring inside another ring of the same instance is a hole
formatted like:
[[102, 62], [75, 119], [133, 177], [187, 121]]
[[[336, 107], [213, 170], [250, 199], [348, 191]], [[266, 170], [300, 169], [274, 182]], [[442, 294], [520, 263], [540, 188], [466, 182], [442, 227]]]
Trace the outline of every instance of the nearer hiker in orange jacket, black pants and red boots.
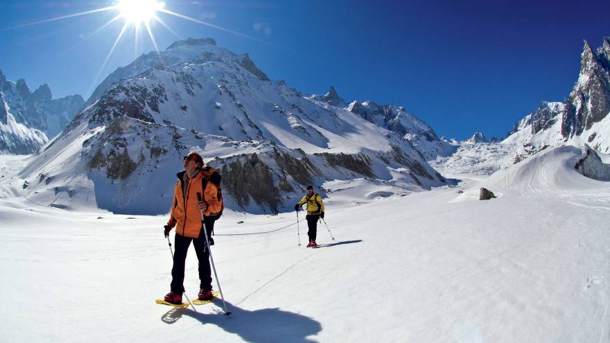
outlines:
[[[209, 251], [203, 230], [204, 225], [209, 225], [210, 221], [211, 225], [214, 225], [214, 220], [210, 220], [211, 215], [220, 212], [222, 204], [218, 199], [218, 189], [213, 182], [206, 182], [205, 189], [203, 189], [203, 165], [201, 155], [196, 152], [191, 152], [184, 157], [184, 170], [177, 173], [178, 182], [174, 188], [171, 214], [167, 225], [164, 226], [166, 237], [169, 236], [171, 229], [176, 228], [171, 292], [164, 298], [165, 301], [172, 304], [182, 304], [184, 265], [191, 241], [199, 260], [200, 292], [198, 299], [209, 300], [212, 297]], [[197, 193], [202, 195], [202, 201], [198, 201]]]

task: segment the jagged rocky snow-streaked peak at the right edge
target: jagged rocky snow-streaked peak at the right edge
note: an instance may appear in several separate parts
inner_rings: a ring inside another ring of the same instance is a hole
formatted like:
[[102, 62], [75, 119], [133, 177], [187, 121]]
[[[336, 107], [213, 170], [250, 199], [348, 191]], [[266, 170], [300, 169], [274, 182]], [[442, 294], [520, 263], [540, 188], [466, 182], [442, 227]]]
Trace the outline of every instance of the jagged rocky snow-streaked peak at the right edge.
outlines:
[[531, 151], [544, 146], [588, 143], [599, 152], [610, 151], [610, 37], [593, 51], [584, 42], [580, 75], [563, 102], [543, 102], [519, 123], [504, 143]]

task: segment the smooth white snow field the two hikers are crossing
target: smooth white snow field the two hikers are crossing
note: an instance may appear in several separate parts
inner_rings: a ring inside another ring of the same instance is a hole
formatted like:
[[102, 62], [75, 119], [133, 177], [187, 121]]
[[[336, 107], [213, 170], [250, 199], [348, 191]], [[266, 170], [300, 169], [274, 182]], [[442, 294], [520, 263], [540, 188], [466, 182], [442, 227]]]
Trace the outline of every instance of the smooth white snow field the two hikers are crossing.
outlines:
[[[300, 236], [220, 236], [296, 219], [229, 211], [212, 248], [227, 317], [220, 299], [155, 304], [171, 281], [166, 216], [28, 202], [15, 195], [28, 157], [1, 156], [0, 291], [14, 304], [1, 341], [610, 342], [610, 183], [576, 173], [579, 157], [547, 148], [461, 194], [326, 182], [336, 239], [318, 225], [318, 249], [297, 246], [305, 222]], [[475, 200], [480, 186], [498, 198]], [[191, 248], [189, 299], [198, 284]]]

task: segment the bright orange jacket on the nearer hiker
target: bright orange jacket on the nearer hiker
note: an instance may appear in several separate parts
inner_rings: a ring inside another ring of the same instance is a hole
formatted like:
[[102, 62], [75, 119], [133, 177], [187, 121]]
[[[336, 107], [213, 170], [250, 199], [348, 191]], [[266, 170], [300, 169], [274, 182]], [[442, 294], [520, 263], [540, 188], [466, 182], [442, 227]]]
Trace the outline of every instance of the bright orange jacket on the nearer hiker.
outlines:
[[201, 232], [201, 211], [197, 207], [197, 193], [201, 193], [203, 200], [207, 202], [207, 210], [204, 216], [220, 211], [218, 201], [218, 188], [211, 182], [207, 182], [205, 191], [202, 191], [203, 174], [198, 173], [189, 184], [186, 185], [186, 197], [182, 193], [182, 179], [186, 170], [177, 173], [178, 182], [174, 187], [174, 197], [171, 207], [171, 214], [167, 225], [176, 227], [176, 234], [185, 237], [199, 238]]

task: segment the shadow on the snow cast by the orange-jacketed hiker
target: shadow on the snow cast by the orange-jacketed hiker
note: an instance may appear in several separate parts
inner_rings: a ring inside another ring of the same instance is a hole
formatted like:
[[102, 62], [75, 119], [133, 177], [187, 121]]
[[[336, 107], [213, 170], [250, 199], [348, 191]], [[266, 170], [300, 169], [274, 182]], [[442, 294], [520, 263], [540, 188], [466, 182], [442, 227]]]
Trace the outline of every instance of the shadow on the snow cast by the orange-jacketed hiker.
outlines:
[[[222, 308], [222, 302], [215, 299], [214, 303]], [[227, 333], [235, 333], [242, 340], [252, 343], [267, 342], [316, 342], [307, 336], [316, 335], [322, 331], [322, 324], [310, 317], [299, 315], [279, 308], [263, 308], [261, 310], [243, 310], [225, 301], [229, 316], [223, 312], [200, 313], [192, 308], [172, 308], [161, 320], [173, 324], [183, 315], [193, 317], [202, 324], [212, 324], [222, 328]], [[209, 305], [208, 305], [209, 306]], [[196, 308], [196, 307], [195, 307]], [[203, 310], [204, 307], [202, 306]]]

